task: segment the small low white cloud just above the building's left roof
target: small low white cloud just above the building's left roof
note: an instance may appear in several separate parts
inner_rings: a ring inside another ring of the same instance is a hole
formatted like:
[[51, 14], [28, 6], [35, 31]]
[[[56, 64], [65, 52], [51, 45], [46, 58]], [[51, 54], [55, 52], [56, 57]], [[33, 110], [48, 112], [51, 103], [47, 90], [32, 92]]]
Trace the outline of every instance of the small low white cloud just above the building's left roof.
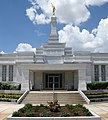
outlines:
[[30, 44], [20, 43], [16, 48], [16, 52], [25, 52], [25, 51], [35, 51], [35, 48], [32, 48]]

